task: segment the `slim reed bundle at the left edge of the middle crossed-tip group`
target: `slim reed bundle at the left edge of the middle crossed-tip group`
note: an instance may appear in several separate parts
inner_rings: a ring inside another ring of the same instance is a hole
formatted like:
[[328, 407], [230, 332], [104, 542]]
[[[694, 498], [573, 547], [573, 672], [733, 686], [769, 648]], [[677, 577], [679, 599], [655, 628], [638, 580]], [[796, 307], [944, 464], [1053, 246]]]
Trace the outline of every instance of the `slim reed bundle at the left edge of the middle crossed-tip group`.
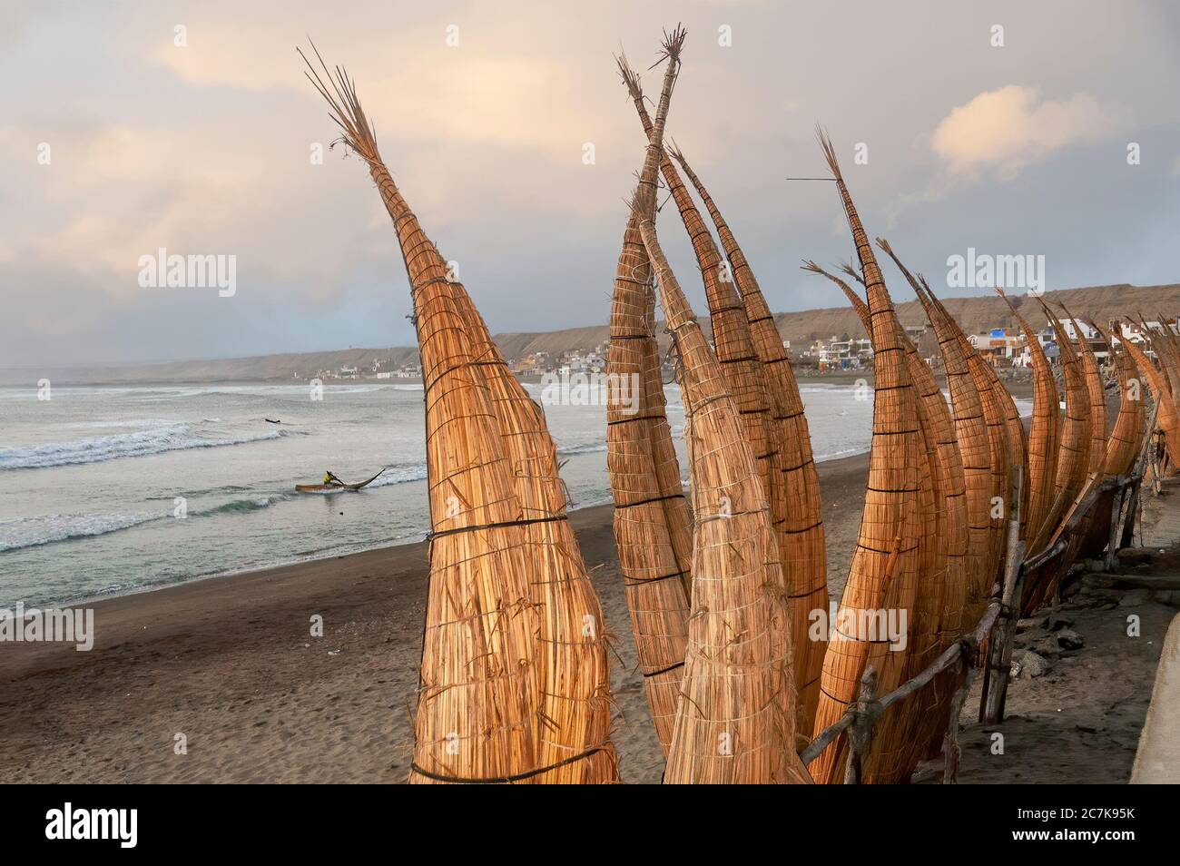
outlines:
[[[607, 374], [615, 543], [643, 687], [667, 756], [688, 641], [693, 539], [660, 378], [651, 263], [634, 216], [615, 276]], [[661, 485], [669, 473], [673, 491]]]

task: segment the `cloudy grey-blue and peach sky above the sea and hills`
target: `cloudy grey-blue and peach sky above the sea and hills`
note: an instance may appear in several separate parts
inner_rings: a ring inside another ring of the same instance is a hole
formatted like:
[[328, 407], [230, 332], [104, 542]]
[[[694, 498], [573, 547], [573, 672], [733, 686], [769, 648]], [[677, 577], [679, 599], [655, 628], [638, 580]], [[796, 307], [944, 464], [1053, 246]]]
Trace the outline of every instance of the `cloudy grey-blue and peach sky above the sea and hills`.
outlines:
[[[799, 269], [852, 252], [834, 185], [787, 181], [825, 175], [817, 124], [870, 234], [936, 290], [969, 248], [1044, 256], [1050, 290], [1180, 281], [1167, 0], [2, 0], [0, 367], [413, 345], [388, 216], [302, 74], [309, 38], [494, 332], [604, 323], [644, 149], [612, 55], [655, 94], [677, 22], [668, 135], [772, 309], [844, 303]], [[703, 313], [673, 205], [660, 227]], [[160, 249], [224, 256], [232, 291], [155, 284]]]

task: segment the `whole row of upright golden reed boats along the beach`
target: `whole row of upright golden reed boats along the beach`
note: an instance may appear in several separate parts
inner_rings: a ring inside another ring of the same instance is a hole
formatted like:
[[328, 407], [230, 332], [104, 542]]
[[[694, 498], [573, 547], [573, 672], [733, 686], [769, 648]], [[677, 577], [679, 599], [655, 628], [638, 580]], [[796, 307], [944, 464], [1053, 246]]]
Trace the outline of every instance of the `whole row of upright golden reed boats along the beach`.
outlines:
[[[608, 471], [631, 630], [666, 782], [839, 782], [845, 736], [809, 766], [798, 753], [847, 711], [870, 665], [878, 694], [887, 693], [975, 628], [1015, 540], [1014, 509], [1023, 550], [1068, 536], [1070, 556], [1027, 576], [1021, 606], [1053, 598], [1062, 563], [1082, 555], [1088, 537], [1086, 521], [1071, 517], [1104, 480], [1132, 471], [1150, 432], [1141, 380], [1169, 461], [1180, 458], [1180, 343], [1167, 328], [1149, 332], [1156, 368], [1143, 348], [1099, 329], [1121, 394], [1108, 424], [1089, 342], [1074, 343], [1036, 298], [1061, 349], [1058, 389], [1031, 327], [1005, 298], [1032, 353], [1025, 431], [1008, 389], [929, 283], [877, 238], [937, 335], [948, 402], [894, 314], [835, 150], [819, 133], [858, 261], [841, 269], [852, 284], [814, 262], [804, 268], [856, 308], [872, 340], [876, 386], [857, 547], [834, 630], [814, 628], [828, 609], [824, 512], [799, 386], [733, 230], [683, 152], [663, 140], [684, 35], [666, 33], [654, 117], [638, 76], [618, 59], [648, 142], [618, 256], [608, 356], [616, 383]], [[617, 782], [607, 628], [544, 413], [394, 183], [353, 80], [315, 59], [304, 57], [308, 78], [393, 221], [422, 362], [432, 532], [409, 781]], [[661, 247], [661, 190], [696, 255], [712, 343]], [[688, 494], [657, 327], [678, 357]], [[621, 398], [622, 381], [638, 385], [637, 401]], [[904, 615], [900, 649], [879, 634], [886, 611]], [[863, 781], [907, 780], [937, 750], [955, 689], [946, 673], [892, 706], [863, 756]]]

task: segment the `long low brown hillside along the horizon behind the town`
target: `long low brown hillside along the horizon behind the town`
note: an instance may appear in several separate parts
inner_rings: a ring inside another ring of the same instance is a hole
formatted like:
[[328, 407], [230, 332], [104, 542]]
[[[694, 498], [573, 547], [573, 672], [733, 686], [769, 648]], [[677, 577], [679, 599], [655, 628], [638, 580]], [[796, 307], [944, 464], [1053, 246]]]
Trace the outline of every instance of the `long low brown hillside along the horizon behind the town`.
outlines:
[[[1032, 298], [1015, 296], [1017, 308], [1034, 323], [1043, 323], [1043, 315]], [[1180, 284], [1167, 286], [1094, 286], [1084, 289], [1047, 291], [1051, 304], [1064, 302], [1070, 313], [1090, 316], [1100, 323], [1120, 315], [1143, 313], [1154, 317], [1158, 313], [1180, 313]], [[943, 302], [969, 334], [977, 334], [995, 327], [1015, 327], [1011, 314], [996, 295], [986, 297], [945, 297]], [[922, 306], [917, 301], [900, 303], [897, 313], [904, 324], [925, 321]], [[801, 313], [776, 313], [774, 322], [785, 340], [789, 340], [795, 354], [817, 339], [850, 334], [864, 334], [860, 320], [851, 307], [804, 310]], [[701, 317], [701, 326], [708, 333], [709, 320]], [[533, 352], [557, 354], [568, 350], [594, 349], [609, 336], [605, 324], [583, 328], [566, 328], [545, 333], [497, 334], [496, 343], [509, 360]], [[660, 342], [667, 346], [668, 335], [661, 333]], [[304, 381], [317, 370], [339, 369], [355, 366], [372, 368], [373, 361], [389, 366], [418, 362], [414, 347], [387, 349], [339, 349], [335, 352], [288, 353], [282, 355], [258, 355], [256, 357], [230, 357], [214, 361], [175, 361], [138, 366], [61, 367], [57, 369], [0, 369], [0, 385], [31, 385], [48, 378], [60, 385], [84, 383], [133, 383], [133, 382], [230, 382], [230, 381]]]

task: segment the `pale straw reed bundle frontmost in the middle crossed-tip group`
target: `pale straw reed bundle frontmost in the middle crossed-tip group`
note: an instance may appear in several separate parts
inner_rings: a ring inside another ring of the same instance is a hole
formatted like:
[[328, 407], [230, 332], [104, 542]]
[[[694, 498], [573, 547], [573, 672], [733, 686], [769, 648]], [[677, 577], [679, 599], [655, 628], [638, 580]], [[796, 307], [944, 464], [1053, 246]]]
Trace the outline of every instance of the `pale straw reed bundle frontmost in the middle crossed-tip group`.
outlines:
[[664, 781], [807, 782], [794, 749], [791, 623], [769, 506], [721, 365], [655, 227], [664, 123], [683, 40], [677, 27], [664, 41], [668, 68], [632, 202], [683, 363], [695, 517], [688, 647]]

